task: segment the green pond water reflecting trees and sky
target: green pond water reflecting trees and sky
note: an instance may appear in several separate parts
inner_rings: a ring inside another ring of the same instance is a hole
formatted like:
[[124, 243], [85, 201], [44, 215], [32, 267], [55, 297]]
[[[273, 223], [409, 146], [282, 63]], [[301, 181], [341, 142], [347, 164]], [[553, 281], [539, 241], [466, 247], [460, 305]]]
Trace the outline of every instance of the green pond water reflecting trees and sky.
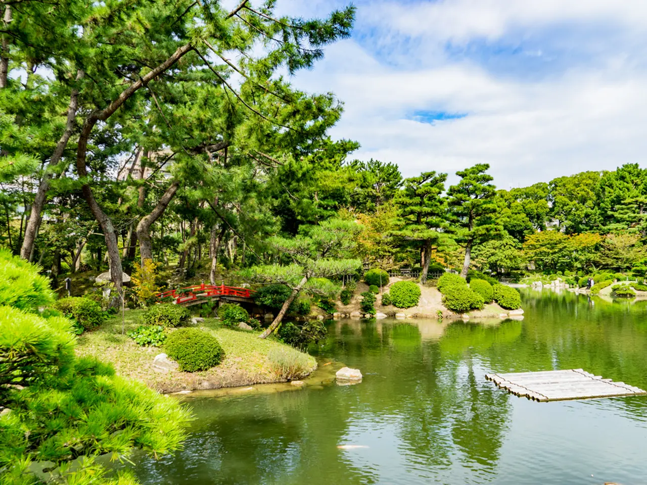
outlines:
[[[523, 321], [331, 322], [309, 385], [186, 398], [197, 420], [184, 449], [138, 455], [135, 473], [145, 484], [647, 483], [647, 396], [538, 403], [485, 380], [581, 367], [647, 389], [647, 301], [525, 290], [523, 308]], [[363, 382], [336, 385], [341, 363]]]

